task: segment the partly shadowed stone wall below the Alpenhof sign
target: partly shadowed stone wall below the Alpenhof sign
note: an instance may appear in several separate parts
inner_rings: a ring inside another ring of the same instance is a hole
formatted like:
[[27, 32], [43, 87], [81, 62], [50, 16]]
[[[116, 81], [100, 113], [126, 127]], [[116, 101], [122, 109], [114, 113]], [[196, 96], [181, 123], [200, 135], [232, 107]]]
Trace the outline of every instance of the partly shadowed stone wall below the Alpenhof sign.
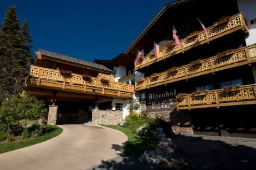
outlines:
[[149, 118], [161, 119], [170, 123], [172, 134], [193, 135], [191, 117], [188, 111], [148, 112], [146, 115]]

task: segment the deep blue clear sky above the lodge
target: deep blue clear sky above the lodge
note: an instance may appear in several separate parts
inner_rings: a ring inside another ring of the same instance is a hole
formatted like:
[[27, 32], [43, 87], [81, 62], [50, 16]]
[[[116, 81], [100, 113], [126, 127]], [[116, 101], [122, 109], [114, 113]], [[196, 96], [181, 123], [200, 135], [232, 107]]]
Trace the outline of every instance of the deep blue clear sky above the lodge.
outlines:
[[172, 0], [0, 2], [0, 21], [11, 5], [28, 20], [34, 51], [49, 50], [87, 61], [122, 53], [163, 5]]

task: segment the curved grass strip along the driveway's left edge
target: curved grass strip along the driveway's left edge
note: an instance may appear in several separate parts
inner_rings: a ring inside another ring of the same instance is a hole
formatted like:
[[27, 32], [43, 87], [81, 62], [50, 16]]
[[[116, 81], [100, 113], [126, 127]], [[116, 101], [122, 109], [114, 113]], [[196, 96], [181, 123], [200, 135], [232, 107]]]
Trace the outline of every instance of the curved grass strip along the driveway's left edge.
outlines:
[[39, 137], [25, 140], [21, 143], [0, 143], [0, 153], [9, 152], [15, 149], [28, 147], [29, 145], [37, 144], [58, 136], [62, 133], [63, 129], [57, 126], [43, 125], [44, 134]]

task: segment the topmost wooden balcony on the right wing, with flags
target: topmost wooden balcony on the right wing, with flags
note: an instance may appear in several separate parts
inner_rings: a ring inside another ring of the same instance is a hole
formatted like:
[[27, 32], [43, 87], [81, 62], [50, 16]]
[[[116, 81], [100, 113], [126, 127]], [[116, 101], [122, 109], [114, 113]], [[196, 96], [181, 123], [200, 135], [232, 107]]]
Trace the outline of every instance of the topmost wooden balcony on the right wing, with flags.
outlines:
[[228, 21], [213, 25], [207, 28], [207, 30], [209, 30], [209, 35], [202, 30], [194, 35], [181, 39], [181, 47], [176, 45], [175, 42], [167, 44], [159, 51], [159, 55], [157, 57], [153, 52], [149, 53], [140, 63], [135, 63], [134, 70], [149, 66], [150, 64], [169, 58], [172, 55], [182, 53], [198, 45], [208, 43], [227, 34], [234, 33], [237, 30], [243, 30], [245, 34], [249, 34], [242, 13], [232, 16]]

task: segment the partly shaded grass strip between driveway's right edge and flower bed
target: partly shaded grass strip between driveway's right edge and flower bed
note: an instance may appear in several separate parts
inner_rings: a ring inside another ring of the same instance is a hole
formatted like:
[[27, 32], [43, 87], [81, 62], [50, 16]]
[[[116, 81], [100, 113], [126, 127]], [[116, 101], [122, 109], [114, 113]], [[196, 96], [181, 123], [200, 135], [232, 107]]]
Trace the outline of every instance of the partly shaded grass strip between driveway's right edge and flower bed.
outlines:
[[[139, 123], [134, 123], [139, 126]], [[120, 127], [117, 125], [102, 125], [109, 128], [117, 129], [127, 135], [128, 141], [125, 145], [123, 153], [125, 155], [138, 157], [146, 150], [155, 150], [159, 141], [154, 137], [140, 137], [134, 132], [135, 126], [130, 125], [130, 128]]]

